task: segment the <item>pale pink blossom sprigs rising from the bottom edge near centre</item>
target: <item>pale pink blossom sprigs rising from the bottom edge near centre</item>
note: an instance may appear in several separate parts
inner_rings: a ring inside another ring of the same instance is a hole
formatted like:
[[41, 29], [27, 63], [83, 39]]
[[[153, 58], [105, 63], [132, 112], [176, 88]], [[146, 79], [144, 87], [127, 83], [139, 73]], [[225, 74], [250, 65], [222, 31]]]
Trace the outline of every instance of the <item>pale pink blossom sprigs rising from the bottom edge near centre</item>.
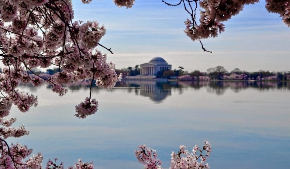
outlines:
[[[204, 151], [205, 154], [203, 154]], [[191, 153], [184, 145], [181, 145], [178, 153], [172, 151], [169, 169], [209, 168], [208, 163], [205, 163], [205, 161], [210, 153], [211, 145], [208, 141], [205, 141], [202, 149], [195, 145]], [[139, 146], [139, 150], [135, 151], [135, 155], [138, 161], [144, 164], [144, 169], [162, 169], [162, 162], [157, 159], [156, 151], [146, 147], [146, 145]]]

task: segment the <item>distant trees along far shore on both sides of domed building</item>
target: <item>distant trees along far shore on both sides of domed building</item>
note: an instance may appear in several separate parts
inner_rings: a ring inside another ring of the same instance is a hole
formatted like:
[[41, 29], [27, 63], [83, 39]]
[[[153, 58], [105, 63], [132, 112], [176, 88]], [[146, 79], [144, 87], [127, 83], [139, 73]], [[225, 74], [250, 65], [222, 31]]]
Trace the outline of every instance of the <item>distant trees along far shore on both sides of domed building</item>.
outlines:
[[[33, 71], [33, 72], [32, 72]], [[35, 73], [39, 74], [49, 74], [53, 75], [59, 71], [62, 71], [60, 68], [51, 68], [47, 69], [46, 72], [40, 70], [32, 70], [28, 74]], [[0, 73], [2, 69], [0, 67]], [[124, 76], [137, 76], [140, 75], [140, 65], [135, 65], [135, 67], [127, 67], [122, 69], [116, 69], [116, 73], [123, 74]], [[235, 68], [232, 71], [227, 71], [223, 66], [211, 67], [208, 68], [206, 72], [201, 72], [199, 70], [194, 70], [192, 72], [184, 71], [182, 66], [179, 66], [178, 69], [174, 70], [161, 70], [157, 72], [156, 78], [167, 78], [178, 77], [180, 80], [290, 80], [290, 71], [275, 72], [275, 71], [265, 71], [259, 70], [255, 72], [247, 72]]]

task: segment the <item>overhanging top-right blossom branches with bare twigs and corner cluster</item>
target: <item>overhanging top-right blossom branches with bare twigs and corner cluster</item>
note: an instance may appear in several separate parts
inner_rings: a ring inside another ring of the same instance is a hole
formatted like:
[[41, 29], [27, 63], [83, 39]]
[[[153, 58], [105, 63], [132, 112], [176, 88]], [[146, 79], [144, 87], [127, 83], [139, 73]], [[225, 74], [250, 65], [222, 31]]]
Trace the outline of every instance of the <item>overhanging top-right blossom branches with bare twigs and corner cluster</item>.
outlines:
[[[239, 14], [244, 5], [254, 4], [259, 0], [178, 0], [176, 4], [167, 3], [164, 0], [163, 2], [169, 6], [184, 6], [185, 11], [190, 15], [190, 18], [184, 22], [186, 25], [184, 32], [193, 41], [200, 41], [200, 39], [216, 37], [218, 33], [221, 34], [225, 28], [223, 21]], [[198, 8], [200, 9], [199, 23], [196, 17]], [[290, 27], [289, 0], [266, 0], [266, 9], [269, 12], [280, 14], [282, 21]], [[205, 50], [202, 43], [201, 47], [204, 51], [208, 51]]]

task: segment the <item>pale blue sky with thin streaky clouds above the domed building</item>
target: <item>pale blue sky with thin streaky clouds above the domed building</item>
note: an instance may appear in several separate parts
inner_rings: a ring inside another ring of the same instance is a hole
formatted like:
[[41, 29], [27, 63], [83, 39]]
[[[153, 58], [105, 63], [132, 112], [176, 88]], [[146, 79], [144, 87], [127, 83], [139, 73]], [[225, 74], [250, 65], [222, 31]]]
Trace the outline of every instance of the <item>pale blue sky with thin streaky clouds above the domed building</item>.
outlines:
[[136, 0], [130, 9], [118, 8], [111, 0], [72, 2], [76, 20], [96, 20], [105, 25], [107, 33], [101, 44], [111, 47], [114, 55], [100, 50], [117, 68], [161, 56], [173, 68], [183, 66], [188, 71], [206, 71], [218, 65], [229, 71], [236, 67], [248, 71], [290, 70], [290, 28], [278, 14], [267, 12], [265, 1], [245, 6], [239, 15], [224, 22], [222, 34], [203, 40], [213, 54], [203, 52], [200, 44], [183, 32], [183, 22], [189, 16], [182, 7], [169, 7], [161, 0]]

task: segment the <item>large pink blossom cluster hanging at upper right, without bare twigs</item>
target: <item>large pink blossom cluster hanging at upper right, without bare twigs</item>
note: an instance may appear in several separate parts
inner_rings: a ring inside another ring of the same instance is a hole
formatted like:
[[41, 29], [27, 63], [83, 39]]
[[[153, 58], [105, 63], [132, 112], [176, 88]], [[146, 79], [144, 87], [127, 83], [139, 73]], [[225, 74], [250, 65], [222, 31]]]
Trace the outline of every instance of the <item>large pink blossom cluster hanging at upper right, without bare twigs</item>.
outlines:
[[202, 0], [199, 1], [200, 7], [200, 24], [195, 21], [195, 15], [191, 20], [185, 21], [185, 33], [193, 41], [208, 37], [216, 37], [218, 33], [224, 31], [222, 21], [227, 21], [232, 16], [237, 15], [243, 10], [244, 5], [253, 4], [259, 0]]

